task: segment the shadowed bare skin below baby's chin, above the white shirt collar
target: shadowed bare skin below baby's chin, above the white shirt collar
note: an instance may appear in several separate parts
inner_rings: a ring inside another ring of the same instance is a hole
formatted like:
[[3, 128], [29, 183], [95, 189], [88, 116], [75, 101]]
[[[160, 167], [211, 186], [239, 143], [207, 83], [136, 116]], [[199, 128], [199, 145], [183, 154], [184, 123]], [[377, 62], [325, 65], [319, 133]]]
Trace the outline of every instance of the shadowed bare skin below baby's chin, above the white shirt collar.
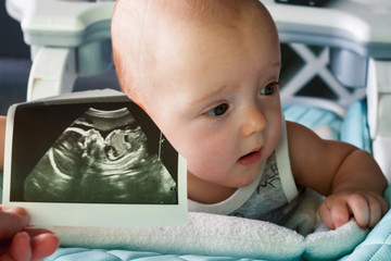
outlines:
[[218, 203], [229, 198], [237, 188], [223, 187], [202, 181], [188, 172], [188, 198], [204, 204]]

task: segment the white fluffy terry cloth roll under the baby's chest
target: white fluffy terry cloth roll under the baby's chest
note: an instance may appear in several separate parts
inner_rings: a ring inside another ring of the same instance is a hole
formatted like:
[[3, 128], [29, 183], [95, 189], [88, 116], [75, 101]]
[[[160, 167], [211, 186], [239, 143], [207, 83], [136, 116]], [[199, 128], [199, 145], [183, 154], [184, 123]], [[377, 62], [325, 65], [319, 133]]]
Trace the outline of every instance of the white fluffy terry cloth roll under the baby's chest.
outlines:
[[[390, 187], [386, 198], [391, 199]], [[60, 236], [62, 247], [265, 260], [336, 260], [352, 252], [368, 233], [354, 220], [337, 229], [320, 225], [302, 236], [268, 222], [197, 212], [190, 212], [188, 223], [179, 226], [50, 229]]]

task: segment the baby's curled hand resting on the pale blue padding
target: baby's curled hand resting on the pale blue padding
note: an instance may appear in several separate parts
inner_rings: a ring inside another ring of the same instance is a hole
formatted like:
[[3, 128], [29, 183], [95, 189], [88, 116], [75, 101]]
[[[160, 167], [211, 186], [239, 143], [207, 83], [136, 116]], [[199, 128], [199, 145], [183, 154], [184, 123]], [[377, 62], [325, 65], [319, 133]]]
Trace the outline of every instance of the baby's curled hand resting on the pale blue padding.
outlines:
[[354, 216], [360, 227], [374, 227], [389, 206], [380, 194], [365, 190], [341, 190], [328, 196], [320, 204], [323, 222], [337, 228]]

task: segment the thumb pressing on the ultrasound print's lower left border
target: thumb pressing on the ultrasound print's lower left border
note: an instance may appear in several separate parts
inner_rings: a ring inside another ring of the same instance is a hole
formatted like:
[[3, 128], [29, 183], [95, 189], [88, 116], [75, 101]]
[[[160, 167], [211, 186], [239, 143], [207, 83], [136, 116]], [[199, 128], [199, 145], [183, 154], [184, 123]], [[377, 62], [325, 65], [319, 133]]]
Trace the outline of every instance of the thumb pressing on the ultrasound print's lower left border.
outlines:
[[0, 212], [0, 240], [9, 240], [21, 232], [29, 222], [27, 211], [22, 208], [11, 208]]

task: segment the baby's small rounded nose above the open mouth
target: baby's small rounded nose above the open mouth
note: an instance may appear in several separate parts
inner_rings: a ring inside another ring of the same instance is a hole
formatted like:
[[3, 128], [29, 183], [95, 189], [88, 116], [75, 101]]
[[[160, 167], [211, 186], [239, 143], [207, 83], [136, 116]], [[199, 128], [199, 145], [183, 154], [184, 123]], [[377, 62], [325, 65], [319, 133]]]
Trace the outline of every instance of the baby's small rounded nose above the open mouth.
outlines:
[[247, 110], [243, 114], [241, 135], [248, 137], [253, 133], [262, 132], [266, 124], [266, 117], [258, 108]]

